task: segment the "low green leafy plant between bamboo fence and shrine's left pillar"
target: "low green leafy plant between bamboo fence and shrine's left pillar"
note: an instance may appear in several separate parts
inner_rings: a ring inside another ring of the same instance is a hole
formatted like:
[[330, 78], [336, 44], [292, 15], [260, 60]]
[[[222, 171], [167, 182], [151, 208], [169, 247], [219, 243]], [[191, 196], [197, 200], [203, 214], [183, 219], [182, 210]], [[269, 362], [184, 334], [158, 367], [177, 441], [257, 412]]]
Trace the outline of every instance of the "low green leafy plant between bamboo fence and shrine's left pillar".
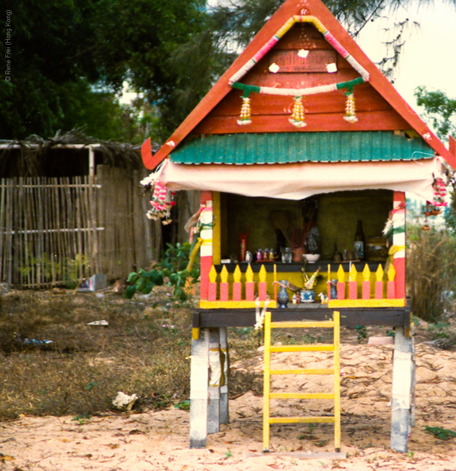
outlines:
[[128, 276], [129, 286], [125, 291], [125, 297], [131, 299], [136, 291], [149, 294], [154, 286], [166, 283], [174, 287], [174, 297], [182, 302], [188, 298], [186, 286], [194, 284], [199, 278], [199, 268], [187, 270], [191, 245], [188, 242], [177, 243], [176, 246], [167, 244], [168, 249], [164, 258], [157, 263], [152, 270], [140, 269], [137, 273], [132, 272]]

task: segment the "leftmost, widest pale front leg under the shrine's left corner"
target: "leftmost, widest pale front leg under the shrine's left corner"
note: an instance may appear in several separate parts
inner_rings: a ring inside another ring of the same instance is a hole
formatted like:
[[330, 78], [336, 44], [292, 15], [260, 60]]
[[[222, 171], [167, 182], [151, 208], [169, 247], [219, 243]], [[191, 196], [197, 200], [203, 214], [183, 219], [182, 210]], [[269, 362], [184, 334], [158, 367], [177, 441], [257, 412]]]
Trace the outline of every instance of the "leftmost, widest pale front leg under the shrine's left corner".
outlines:
[[209, 329], [192, 340], [190, 358], [190, 448], [205, 448], [208, 434]]

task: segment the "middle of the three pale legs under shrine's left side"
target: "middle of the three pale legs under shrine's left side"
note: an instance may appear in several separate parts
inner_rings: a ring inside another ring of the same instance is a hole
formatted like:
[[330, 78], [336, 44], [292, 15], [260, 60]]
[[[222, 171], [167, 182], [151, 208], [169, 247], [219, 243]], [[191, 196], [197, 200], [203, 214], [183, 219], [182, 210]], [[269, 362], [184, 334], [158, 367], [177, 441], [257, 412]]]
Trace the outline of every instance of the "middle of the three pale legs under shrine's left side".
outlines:
[[222, 377], [220, 362], [220, 329], [209, 329], [209, 403], [208, 403], [208, 433], [220, 430], [220, 381]]

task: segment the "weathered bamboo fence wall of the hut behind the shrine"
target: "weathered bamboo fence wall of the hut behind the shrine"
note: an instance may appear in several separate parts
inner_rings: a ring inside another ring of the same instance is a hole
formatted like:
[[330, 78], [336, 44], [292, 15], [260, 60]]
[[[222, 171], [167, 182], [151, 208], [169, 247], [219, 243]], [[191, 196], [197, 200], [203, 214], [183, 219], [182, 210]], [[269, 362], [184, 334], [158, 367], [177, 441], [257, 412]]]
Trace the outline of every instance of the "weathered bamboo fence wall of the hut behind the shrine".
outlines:
[[1, 179], [1, 282], [42, 288], [146, 267], [160, 228], [145, 217], [143, 176], [99, 165], [95, 176]]

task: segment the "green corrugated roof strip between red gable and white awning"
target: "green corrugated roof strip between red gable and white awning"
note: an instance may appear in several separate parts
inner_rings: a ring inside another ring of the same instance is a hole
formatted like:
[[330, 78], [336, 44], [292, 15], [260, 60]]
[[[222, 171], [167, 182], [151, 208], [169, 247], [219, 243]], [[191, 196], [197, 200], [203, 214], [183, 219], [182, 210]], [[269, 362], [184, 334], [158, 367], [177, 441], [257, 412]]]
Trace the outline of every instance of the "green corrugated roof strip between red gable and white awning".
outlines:
[[175, 163], [292, 163], [412, 160], [433, 157], [421, 138], [392, 131], [213, 134], [184, 142]]

